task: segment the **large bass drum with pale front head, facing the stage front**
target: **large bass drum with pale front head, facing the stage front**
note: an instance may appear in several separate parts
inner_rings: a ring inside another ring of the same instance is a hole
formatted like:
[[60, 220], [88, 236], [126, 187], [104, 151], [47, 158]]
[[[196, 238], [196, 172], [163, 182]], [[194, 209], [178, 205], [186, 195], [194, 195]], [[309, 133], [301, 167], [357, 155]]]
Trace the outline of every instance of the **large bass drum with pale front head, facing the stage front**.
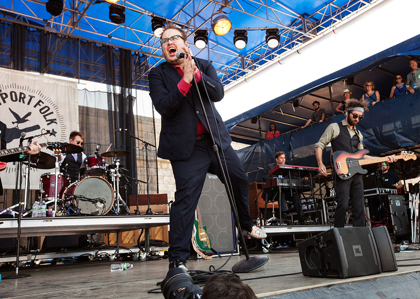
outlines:
[[[105, 215], [114, 205], [115, 197], [113, 188], [107, 181], [97, 176], [85, 177], [79, 182], [74, 182], [63, 193], [63, 200], [73, 201], [74, 206], [76, 208], [79, 207], [80, 212], [85, 215]], [[81, 195], [97, 202], [91, 202], [82, 198], [79, 199], [68, 194]], [[79, 204], [77, 200], [79, 200]]]

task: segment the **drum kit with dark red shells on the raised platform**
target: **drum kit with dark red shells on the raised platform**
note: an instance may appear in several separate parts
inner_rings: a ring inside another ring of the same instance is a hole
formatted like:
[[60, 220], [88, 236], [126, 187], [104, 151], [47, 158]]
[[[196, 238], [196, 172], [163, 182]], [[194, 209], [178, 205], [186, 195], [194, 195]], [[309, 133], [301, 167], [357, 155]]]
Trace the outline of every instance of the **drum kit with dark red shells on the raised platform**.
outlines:
[[[62, 143], [63, 154], [83, 151], [83, 148], [70, 143]], [[91, 215], [101, 216], [108, 212], [120, 214], [120, 206], [125, 213], [129, 208], [119, 194], [120, 177], [122, 176], [119, 157], [128, 155], [126, 150], [111, 150], [87, 156], [83, 161], [83, 174], [79, 180], [70, 182], [69, 175], [60, 172], [58, 153], [48, 155], [40, 152], [32, 159], [31, 167], [40, 169], [55, 168], [55, 172], [41, 175], [40, 202], [47, 206], [54, 205], [57, 216]], [[111, 158], [111, 164], [106, 158]], [[84, 170], [84, 172], [83, 172]], [[115, 199], [118, 199], [117, 201]], [[116, 202], [116, 203], [115, 203]]]

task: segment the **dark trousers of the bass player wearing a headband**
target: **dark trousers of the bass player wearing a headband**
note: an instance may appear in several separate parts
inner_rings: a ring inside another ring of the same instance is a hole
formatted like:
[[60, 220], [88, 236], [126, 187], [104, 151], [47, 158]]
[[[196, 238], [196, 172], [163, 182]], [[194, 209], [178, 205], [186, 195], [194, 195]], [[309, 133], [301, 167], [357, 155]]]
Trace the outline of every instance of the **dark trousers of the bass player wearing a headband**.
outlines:
[[336, 177], [336, 213], [334, 227], [344, 227], [349, 198], [352, 201], [353, 226], [365, 226], [364, 191], [362, 175], [357, 173], [348, 180]]

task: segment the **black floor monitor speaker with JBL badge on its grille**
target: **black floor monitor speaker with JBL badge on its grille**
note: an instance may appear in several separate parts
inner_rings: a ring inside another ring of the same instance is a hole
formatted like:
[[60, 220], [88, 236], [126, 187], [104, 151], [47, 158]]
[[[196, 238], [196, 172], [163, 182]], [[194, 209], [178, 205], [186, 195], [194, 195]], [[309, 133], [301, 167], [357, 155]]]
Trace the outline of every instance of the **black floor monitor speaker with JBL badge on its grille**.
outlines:
[[302, 273], [310, 277], [349, 278], [381, 272], [370, 227], [342, 227], [297, 243]]

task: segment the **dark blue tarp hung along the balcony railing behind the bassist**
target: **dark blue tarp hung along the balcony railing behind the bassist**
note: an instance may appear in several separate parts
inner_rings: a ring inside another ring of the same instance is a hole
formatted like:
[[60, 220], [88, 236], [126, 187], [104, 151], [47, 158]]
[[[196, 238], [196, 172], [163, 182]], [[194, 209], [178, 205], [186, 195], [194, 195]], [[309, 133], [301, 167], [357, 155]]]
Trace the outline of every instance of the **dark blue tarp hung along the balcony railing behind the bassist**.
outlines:
[[[420, 143], [420, 92], [402, 94], [370, 107], [357, 129], [363, 142], [373, 155], [390, 150], [399, 150]], [[329, 123], [340, 122], [344, 115], [337, 115], [323, 123], [294, 131], [279, 137], [260, 141], [250, 147], [236, 151], [245, 171], [265, 168], [274, 163], [277, 151], [286, 153], [286, 164], [317, 167], [315, 144]], [[323, 151], [323, 162], [330, 165], [330, 148]], [[249, 174], [250, 182], [262, 180], [264, 171]]]

